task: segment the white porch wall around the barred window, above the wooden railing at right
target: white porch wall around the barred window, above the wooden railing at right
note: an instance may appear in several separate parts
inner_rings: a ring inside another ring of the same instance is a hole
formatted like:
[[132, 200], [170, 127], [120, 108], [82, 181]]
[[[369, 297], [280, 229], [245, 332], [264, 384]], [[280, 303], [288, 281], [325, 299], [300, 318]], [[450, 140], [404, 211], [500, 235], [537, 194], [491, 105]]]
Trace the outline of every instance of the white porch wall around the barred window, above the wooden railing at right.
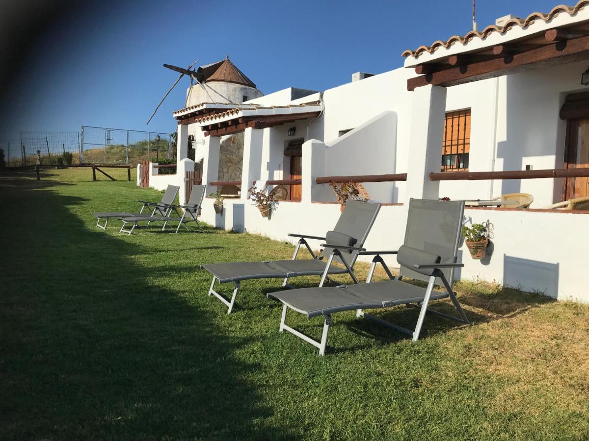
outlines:
[[[561, 168], [566, 122], [558, 112], [568, 93], [587, 90], [585, 69], [579, 62], [448, 88], [446, 111], [472, 108], [469, 171]], [[561, 191], [562, 179], [440, 183], [440, 196], [451, 199], [530, 193], [532, 208], [561, 201]]]

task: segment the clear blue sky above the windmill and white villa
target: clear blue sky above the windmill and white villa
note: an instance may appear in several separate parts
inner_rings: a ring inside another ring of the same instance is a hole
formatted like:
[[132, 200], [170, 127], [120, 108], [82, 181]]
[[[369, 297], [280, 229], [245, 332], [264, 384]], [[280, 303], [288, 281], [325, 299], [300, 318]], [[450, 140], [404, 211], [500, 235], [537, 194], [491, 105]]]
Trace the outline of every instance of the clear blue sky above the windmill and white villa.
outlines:
[[[81, 2], [80, 2], [81, 3]], [[479, 29], [495, 18], [548, 12], [555, 0], [478, 0]], [[75, 7], [72, 5], [72, 7]], [[229, 55], [264, 93], [325, 90], [353, 72], [402, 66], [401, 52], [471, 29], [471, 0], [103, 2], [72, 11], [24, 54], [1, 105], [0, 142], [19, 131], [81, 125], [173, 132], [188, 79], [145, 125], [177, 74], [163, 63], [209, 64]]]

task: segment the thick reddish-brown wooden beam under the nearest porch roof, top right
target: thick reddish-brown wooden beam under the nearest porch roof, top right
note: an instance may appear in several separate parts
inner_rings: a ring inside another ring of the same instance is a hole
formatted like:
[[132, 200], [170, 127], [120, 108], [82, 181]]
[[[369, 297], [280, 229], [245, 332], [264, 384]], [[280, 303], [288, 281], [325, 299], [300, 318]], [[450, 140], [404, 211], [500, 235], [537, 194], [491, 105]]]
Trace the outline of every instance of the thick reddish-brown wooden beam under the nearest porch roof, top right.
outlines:
[[508, 55], [502, 58], [458, 66], [446, 71], [416, 76], [407, 80], [407, 89], [414, 91], [426, 85], [449, 87], [458, 84], [516, 74], [532, 64], [550, 66], [589, 58], [589, 36], [548, 44], [538, 49]]

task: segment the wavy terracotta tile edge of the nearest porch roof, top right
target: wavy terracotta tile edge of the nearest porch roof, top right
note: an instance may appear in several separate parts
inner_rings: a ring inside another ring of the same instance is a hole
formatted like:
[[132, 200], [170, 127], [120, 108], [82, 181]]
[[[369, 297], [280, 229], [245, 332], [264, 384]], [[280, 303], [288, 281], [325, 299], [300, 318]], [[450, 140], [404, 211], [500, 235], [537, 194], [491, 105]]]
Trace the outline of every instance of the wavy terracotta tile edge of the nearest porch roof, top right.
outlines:
[[543, 12], [532, 12], [532, 14], [528, 15], [527, 18], [514, 18], [509, 20], [503, 26], [491, 25], [487, 26], [481, 32], [479, 31], [471, 31], [468, 32], [465, 36], [454, 35], [451, 36], [446, 41], [438, 40], [432, 43], [431, 46], [419, 46], [419, 48], [412, 51], [411, 49], [407, 49], [403, 51], [401, 56], [413, 56], [418, 57], [423, 52], [434, 52], [439, 47], [448, 48], [449, 46], [453, 45], [456, 42], [466, 43], [471, 41], [473, 38], [486, 38], [492, 32], [499, 32], [499, 34], [504, 34], [508, 32], [509, 29], [514, 28], [515, 26], [519, 26], [521, 28], [531, 25], [534, 21], [540, 19], [542, 21], [550, 21], [554, 16], [560, 14], [561, 12], [565, 12], [568, 15], [577, 14], [577, 12], [583, 8], [584, 6], [589, 5], [589, 0], [580, 0], [574, 6], [567, 6], [567, 5], [558, 5], [552, 8], [552, 11], [548, 12], [548, 14], [544, 14]]

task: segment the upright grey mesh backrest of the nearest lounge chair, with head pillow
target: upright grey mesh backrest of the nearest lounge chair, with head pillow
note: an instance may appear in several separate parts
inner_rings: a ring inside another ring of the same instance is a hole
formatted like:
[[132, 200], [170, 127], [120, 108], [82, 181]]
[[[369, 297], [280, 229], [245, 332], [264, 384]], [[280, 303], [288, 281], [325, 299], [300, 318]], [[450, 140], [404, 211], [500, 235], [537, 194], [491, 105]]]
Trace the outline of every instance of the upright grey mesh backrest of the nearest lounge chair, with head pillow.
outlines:
[[[464, 202], [462, 201], [411, 199], [404, 245], [440, 256], [439, 263], [455, 263], [458, 261], [463, 217]], [[454, 268], [446, 268], [442, 272], [452, 284]], [[399, 274], [424, 282], [429, 280], [429, 276], [403, 265]], [[442, 280], [438, 278], [436, 283], [442, 285]]]

